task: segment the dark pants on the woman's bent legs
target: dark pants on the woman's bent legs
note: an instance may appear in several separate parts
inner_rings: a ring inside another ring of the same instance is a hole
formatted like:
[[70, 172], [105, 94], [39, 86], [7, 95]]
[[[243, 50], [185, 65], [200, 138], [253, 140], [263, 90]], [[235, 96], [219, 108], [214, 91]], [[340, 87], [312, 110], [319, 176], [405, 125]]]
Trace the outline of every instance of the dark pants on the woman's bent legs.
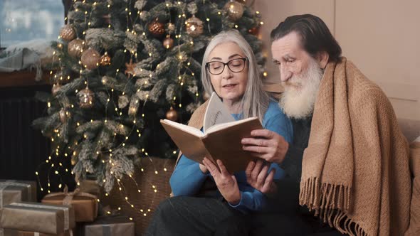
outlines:
[[224, 220], [235, 218], [240, 219], [241, 213], [223, 200], [186, 196], [168, 198], [155, 210], [146, 235], [246, 235], [241, 231], [241, 225], [222, 226]]

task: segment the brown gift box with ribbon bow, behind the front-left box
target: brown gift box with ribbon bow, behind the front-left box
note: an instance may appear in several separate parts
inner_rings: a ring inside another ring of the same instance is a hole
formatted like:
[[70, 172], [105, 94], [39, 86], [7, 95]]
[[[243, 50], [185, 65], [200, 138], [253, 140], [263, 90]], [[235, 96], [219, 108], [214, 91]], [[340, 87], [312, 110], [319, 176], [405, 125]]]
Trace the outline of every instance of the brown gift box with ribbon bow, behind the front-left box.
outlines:
[[53, 205], [73, 205], [76, 222], [93, 222], [98, 216], [98, 198], [90, 193], [81, 193], [79, 189], [68, 193], [50, 193], [46, 195], [42, 203]]

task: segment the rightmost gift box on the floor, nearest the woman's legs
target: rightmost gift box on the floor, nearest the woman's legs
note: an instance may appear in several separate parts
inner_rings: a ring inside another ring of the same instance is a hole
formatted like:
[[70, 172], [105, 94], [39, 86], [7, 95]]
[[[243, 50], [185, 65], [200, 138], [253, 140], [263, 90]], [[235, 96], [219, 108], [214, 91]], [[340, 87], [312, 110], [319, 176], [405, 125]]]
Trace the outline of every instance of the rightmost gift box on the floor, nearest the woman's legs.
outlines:
[[134, 236], [135, 225], [125, 216], [104, 216], [83, 227], [85, 236]]

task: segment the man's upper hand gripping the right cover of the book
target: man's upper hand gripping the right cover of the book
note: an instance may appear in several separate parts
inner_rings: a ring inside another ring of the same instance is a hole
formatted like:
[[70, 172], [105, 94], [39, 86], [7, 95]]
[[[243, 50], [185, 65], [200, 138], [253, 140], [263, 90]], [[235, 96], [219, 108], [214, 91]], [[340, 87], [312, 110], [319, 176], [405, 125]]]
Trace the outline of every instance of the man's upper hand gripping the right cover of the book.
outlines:
[[242, 139], [241, 143], [242, 149], [251, 151], [253, 156], [275, 163], [283, 162], [289, 148], [283, 136], [268, 129], [253, 130], [251, 138]]

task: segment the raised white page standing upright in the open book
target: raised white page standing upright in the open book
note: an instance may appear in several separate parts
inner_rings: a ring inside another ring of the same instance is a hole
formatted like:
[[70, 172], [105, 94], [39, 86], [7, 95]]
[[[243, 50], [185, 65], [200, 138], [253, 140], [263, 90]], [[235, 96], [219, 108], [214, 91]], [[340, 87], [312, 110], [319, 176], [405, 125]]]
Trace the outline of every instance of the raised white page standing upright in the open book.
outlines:
[[204, 114], [204, 133], [216, 124], [234, 121], [235, 118], [232, 117], [231, 112], [223, 104], [216, 92], [213, 92], [207, 105], [206, 113]]

